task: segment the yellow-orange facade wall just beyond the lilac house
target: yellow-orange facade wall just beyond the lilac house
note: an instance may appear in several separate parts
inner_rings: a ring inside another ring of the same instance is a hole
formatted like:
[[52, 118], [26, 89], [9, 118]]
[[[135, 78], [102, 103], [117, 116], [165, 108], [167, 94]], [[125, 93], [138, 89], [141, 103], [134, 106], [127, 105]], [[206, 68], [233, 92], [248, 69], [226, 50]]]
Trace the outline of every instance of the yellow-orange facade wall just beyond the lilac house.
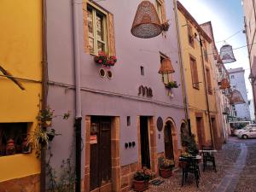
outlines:
[[[202, 61], [201, 61], [201, 45], [198, 40], [194, 39], [194, 48], [190, 46], [189, 38], [188, 38], [187, 19], [179, 10], [177, 12], [177, 15], [179, 20], [179, 29], [180, 29], [179, 35], [180, 35], [181, 47], [182, 47], [183, 67], [184, 67], [184, 76], [185, 76], [184, 80], [186, 84], [186, 91], [187, 91], [188, 102], [189, 102], [189, 119], [190, 119], [191, 131], [193, 134], [195, 134], [196, 141], [198, 141], [195, 113], [202, 113], [203, 127], [204, 127], [204, 133], [205, 133], [204, 141], [208, 143], [208, 142], [211, 142], [211, 131], [210, 131], [209, 119], [207, 115], [207, 96], [205, 93], [203, 67], [202, 67]], [[193, 34], [195, 32], [199, 34], [199, 32], [196, 31], [193, 25], [192, 25], [192, 31], [193, 31]], [[209, 53], [209, 50], [208, 50], [208, 53]], [[195, 57], [195, 60], [196, 60], [198, 79], [199, 79], [199, 82], [201, 82], [199, 84], [200, 86], [199, 90], [193, 88], [189, 55], [192, 55], [193, 57]], [[209, 61], [211, 61], [210, 58], [209, 58]], [[205, 66], [207, 66], [210, 69], [210, 73], [212, 74], [211, 63], [206, 62]], [[211, 75], [211, 79], [212, 78], [213, 76]], [[214, 79], [212, 79], [212, 82], [213, 80]], [[214, 88], [213, 84], [212, 84], [212, 88]], [[208, 98], [209, 98], [210, 113], [212, 113], [212, 111], [216, 111], [215, 109], [216, 100], [215, 100], [214, 91], [212, 91], [212, 95], [208, 94]]]

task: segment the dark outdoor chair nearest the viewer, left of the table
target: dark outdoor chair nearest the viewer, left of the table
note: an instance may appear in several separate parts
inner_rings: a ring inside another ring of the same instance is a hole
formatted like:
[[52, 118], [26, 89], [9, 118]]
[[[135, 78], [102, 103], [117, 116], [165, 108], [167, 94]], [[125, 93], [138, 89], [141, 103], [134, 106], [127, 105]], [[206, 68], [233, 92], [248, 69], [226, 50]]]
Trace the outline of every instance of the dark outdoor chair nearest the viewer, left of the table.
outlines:
[[183, 165], [183, 182], [182, 186], [188, 180], [189, 173], [194, 174], [196, 187], [199, 187], [199, 179], [200, 179], [200, 170], [198, 166], [198, 160], [192, 157], [183, 157], [182, 159]]

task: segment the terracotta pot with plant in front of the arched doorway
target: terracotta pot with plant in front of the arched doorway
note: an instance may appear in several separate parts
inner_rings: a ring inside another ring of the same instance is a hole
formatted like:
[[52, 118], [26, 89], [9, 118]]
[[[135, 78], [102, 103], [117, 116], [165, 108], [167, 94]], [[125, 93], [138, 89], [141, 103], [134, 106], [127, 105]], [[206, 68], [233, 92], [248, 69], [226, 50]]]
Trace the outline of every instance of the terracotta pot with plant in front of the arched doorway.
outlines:
[[174, 160], [168, 160], [163, 157], [160, 158], [160, 176], [161, 177], [171, 177], [172, 176], [172, 169], [174, 167]]

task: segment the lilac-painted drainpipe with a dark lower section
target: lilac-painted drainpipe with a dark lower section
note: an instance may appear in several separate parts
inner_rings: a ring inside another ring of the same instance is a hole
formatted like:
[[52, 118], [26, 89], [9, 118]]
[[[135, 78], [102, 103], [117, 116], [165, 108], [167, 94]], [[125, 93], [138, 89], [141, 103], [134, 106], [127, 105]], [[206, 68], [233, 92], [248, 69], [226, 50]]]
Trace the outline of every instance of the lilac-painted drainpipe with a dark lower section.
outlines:
[[81, 85], [80, 85], [80, 54], [79, 54], [79, 1], [73, 0], [73, 55], [75, 78], [75, 138], [76, 138], [76, 183], [75, 191], [81, 191]]

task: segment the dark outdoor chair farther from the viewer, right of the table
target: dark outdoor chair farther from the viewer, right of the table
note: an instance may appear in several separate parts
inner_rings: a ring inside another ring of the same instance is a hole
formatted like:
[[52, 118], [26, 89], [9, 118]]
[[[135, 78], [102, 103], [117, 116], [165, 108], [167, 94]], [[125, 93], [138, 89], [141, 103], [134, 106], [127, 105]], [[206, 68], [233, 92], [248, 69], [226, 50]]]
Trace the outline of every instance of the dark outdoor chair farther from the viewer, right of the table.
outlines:
[[205, 171], [206, 167], [208, 166], [207, 162], [211, 162], [213, 170], [215, 172], [217, 172], [213, 152], [214, 152], [214, 149], [212, 146], [202, 145], [202, 158], [203, 158], [203, 166], [204, 166], [203, 172]]

